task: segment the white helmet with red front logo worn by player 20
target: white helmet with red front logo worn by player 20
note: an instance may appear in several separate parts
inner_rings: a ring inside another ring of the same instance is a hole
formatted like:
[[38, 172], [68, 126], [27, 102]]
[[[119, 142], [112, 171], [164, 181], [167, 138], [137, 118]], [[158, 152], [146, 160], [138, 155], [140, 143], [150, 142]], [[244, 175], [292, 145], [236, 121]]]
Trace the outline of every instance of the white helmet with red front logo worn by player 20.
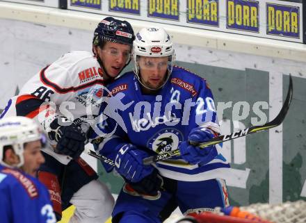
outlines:
[[[139, 65], [138, 56], [148, 56], [148, 57], [163, 57], [168, 56], [168, 76], [164, 84], [168, 81], [170, 74], [172, 72], [173, 62], [175, 60], [175, 50], [173, 48], [172, 39], [170, 35], [161, 27], [150, 27], [142, 28], [137, 34], [136, 39], [133, 43], [133, 62], [134, 62], [134, 73], [138, 81], [145, 88], [148, 88], [144, 83], [142, 83], [139, 76]], [[163, 84], [163, 85], [164, 85]], [[162, 88], [163, 85], [161, 85]], [[151, 89], [150, 90], [156, 90]]]

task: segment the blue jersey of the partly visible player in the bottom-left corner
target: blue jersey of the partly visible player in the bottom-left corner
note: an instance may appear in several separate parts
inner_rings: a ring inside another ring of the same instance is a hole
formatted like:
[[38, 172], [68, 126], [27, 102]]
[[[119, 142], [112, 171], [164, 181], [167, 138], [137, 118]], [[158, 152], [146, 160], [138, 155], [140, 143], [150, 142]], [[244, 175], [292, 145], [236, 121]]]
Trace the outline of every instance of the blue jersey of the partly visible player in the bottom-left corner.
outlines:
[[55, 223], [49, 192], [38, 179], [0, 165], [1, 223]]

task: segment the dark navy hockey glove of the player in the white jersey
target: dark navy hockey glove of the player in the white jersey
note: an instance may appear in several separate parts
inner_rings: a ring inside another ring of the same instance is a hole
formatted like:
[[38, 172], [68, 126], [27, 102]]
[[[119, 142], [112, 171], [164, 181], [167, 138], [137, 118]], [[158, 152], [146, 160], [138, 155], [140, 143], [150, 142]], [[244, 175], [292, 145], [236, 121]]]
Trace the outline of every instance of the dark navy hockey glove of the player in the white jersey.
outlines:
[[[62, 118], [62, 117], [59, 117]], [[61, 123], [61, 122], [60, 122]], [[86, 137], [76, 124], [71, 122], [70, 125], [61, 126], [58, 119], [54, 119], [50, 124], [53, 131], [48, 133], [51, 140], [55, 140], [56, 153], [79, 158], [85, 147]]]

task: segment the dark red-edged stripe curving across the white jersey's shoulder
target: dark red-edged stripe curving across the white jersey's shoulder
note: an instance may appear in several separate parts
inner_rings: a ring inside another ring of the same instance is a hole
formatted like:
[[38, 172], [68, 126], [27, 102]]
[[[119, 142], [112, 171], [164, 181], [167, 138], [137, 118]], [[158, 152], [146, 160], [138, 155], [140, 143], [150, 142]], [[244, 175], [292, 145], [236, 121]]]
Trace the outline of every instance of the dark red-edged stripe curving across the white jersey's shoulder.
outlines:
[[92, 85], [95, 85], [95, 84], [104, 85], [103, 80], [95, 80], [95, 81], [91, 81], [91, 82], [85, 83], [83, 85], [79, 85], [77, 87], [61, 88], [56, 83], [54, 83], [54, 82], [50, 81], [49, 79], [47, 79], [47, 76], [45, 75], [45, 70], [48, 67], [49, 66], [45, 67], [44, 69], [42, 69], [40, 71], [40, 81], [42, 83], [44, 83], [45, 85], [47, 85], [49, 88], [52, 88], [53, 90], [55, 90], [59, 94], [66, 94], [68, 92], [76, 92], [76, 91], [82, 90], [84, 88], [89, 88], [89, 87], [91, 87]]

